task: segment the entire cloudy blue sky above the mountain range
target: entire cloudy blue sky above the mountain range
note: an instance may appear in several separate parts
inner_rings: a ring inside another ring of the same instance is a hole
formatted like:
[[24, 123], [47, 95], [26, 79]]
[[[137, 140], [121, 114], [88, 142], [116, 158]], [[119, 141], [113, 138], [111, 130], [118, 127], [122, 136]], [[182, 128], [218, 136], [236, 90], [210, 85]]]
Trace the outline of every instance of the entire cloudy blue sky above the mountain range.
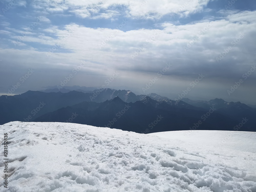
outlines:
[[[41, 90], [70, 74], [67, 86], [101, 87], [118, 71], [108, 87], [174, 99], [203, 74], [186, 97], [256, 102], [255, 1], [1, 0], [0, 5], [1, 93], [17, 83], [13, 94]], [[74, 75], [82, 61], [86, 64]], [[166, 63], [172, 67], [143, 91]], [[21, 82], [31, 68], [35, 72]]]

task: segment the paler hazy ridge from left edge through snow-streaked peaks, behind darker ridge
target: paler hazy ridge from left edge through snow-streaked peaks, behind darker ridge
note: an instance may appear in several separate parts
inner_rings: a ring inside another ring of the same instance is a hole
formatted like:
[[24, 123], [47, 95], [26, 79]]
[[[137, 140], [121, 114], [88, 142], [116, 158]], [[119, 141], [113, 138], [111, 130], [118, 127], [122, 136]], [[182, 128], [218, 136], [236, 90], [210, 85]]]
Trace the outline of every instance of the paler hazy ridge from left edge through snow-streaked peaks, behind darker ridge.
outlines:
[[[126, 90], [103, 89], [101, 92], [98, 92], [96, 90], [92, 93], [83, 93], [79, 91], [68, 91], [67, 93], [27, 91], [20, 95], [3, 95], [0, 97], [0, 124], [9, 121], [34, 121], [41, 115], [83, 101], [101, 103], [118, 96], [121, 97], [123, 101], [136, 102], [147, 97], [146, 95], [145, 97], [142, 97], [141, 95], [137, 96], [131, 91]], [[190, 108], [191, 107], [193, 106], [190, 105]]]

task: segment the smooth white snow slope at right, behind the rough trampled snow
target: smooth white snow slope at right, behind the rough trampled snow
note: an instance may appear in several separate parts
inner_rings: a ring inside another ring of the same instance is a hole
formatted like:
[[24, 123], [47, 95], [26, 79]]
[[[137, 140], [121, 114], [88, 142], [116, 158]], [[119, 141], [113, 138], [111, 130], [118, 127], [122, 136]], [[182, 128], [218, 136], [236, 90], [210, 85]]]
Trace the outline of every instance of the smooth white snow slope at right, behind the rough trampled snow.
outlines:
[[148, 135], [256, 153], [256, 132], [192, 130], [158, 132]]

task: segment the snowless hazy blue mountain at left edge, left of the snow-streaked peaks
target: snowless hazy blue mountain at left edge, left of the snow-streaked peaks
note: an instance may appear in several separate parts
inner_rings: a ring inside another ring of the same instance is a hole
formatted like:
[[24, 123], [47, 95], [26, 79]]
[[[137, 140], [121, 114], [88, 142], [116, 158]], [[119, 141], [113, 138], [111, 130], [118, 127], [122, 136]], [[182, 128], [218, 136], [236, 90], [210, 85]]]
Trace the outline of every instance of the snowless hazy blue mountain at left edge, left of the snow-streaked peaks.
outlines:
[[90, 101], [90, 93], [27, 91], [14, 96], [2, 95], [0, 97], [0, 124], [9, 121], [33, 121], [40, 115], [82, 101]]

